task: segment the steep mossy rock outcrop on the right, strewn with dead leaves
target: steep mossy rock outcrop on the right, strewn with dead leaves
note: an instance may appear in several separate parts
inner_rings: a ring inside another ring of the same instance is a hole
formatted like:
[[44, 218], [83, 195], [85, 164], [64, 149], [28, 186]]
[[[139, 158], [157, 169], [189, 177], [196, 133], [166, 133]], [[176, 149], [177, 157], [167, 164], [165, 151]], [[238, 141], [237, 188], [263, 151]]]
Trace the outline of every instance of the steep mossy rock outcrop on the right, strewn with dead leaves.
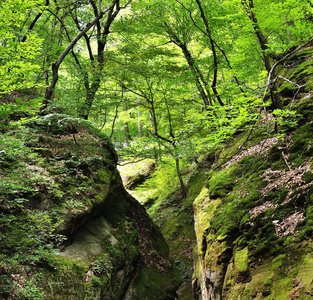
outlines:
[[278, 69], [284, 105], [301, 116], [287, 116], [283, 140], [262, 137], [260, 121], [241, 153], [224, 149], [227, 162], [206, 171], [194, 201], [194, 299], [313, 299], [311, 46]]

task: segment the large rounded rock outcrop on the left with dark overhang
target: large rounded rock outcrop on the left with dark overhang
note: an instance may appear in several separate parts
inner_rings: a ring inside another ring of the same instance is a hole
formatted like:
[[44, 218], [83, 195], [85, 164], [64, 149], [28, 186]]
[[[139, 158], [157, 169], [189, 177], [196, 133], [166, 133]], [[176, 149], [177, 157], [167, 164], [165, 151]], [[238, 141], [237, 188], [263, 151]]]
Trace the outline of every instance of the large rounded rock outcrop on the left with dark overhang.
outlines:
[[108, 139], [65, 115], [26, 125], [15, 131], [19, 152], [0, 161], [11, 184], [1, 220], [15, 220], [0, 226], [2, 297], [174, 299], [168, 246], [124, 189]]

